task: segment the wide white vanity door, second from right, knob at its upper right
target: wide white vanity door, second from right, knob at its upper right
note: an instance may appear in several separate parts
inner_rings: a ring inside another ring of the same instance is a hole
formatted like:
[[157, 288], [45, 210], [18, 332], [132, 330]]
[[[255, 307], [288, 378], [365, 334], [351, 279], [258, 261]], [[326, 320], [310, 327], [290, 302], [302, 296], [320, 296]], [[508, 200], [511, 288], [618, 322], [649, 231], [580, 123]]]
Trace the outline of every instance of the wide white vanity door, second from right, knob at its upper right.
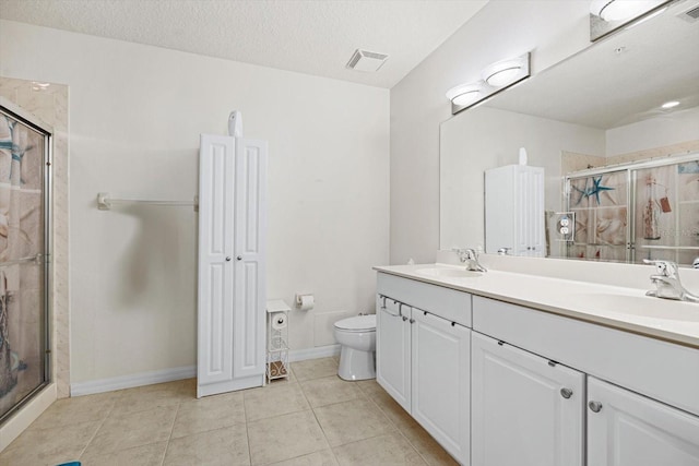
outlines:
[[582, 466], [585, 375], [475, 332], [471, 350], [472, 465]]

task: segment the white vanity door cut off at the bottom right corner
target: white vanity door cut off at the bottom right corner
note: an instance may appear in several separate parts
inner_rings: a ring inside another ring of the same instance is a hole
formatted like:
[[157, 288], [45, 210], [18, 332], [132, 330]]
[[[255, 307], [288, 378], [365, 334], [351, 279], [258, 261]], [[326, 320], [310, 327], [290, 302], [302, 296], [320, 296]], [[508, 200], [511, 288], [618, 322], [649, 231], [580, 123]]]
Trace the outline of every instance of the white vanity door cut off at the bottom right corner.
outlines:
[[699, 466], [699, 417], [594, 378], [588, 399], [589, 465]]

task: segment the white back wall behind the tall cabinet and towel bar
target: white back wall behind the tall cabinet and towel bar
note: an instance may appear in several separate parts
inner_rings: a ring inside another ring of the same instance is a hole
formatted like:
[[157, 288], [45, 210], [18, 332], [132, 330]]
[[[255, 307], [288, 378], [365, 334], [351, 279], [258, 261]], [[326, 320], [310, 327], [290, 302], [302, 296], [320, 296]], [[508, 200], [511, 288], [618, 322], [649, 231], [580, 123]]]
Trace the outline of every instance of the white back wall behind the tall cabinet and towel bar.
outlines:
[[[100, 212], [99, 191], [191, 199], [199, 134], [268, 140], [268, 297], [293, 311], [293, 349], [372, 307], [388, 262], [389, 92], [323, 77], [0, 22], [0, 74], [70, 86], [71, 382], [196, 361], [196, 214]], [[330, 314], [330, 319], [325, 319]], [[318, 322], [317, 322], [318, 321]]]

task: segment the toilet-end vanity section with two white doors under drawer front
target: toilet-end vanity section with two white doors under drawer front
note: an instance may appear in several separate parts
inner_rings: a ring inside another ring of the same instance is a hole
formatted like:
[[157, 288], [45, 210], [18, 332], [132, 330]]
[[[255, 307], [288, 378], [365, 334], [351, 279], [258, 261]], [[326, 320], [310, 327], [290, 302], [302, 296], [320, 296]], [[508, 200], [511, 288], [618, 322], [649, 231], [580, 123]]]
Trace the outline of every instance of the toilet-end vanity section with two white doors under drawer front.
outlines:
[[424, 283], [415, 283], [416, 290], [411, 282], [379, 274], [377, 382], [445, 450], [467, 465], [471, 330], [435, 312], [449, 309], [443, 313], [470, 322], [471, 297]]

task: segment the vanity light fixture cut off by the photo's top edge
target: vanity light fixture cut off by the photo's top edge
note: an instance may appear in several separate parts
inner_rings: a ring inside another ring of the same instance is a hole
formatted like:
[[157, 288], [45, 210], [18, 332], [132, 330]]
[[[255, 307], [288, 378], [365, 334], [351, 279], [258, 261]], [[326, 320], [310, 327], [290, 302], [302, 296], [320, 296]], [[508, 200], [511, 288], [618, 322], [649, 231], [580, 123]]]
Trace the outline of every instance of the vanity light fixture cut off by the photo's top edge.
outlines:
[[647, 21], [651, 15], [673, 0], [592, 0], [590, 3], [590, 40], [595, 41], [638, 20]]

